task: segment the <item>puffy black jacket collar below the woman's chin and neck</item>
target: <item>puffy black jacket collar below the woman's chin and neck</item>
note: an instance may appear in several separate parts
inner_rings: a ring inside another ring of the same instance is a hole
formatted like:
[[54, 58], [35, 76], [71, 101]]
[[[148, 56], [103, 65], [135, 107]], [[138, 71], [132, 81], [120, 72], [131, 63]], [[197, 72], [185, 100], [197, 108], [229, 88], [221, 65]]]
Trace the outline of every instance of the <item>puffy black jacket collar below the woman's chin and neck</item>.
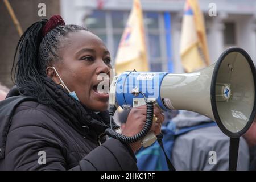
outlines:
[[[46, 85], [47, 93], [55, 101], [52, 107], [57, 110], [64, 117], [69, 118], [69, 122], [72, 122], [79, 129], [89, 127], [88, 133], [100, 135], [110, 127], [109, 111], [94, 113], [88, 109], [81, 102], [76, 101], [73, 97], [69, 96], [60, 85], [56, 85], [51, 78], [45, 77], [43, 80]], [[112, 122], [113, 129], [118, 129], [114, 122]]]

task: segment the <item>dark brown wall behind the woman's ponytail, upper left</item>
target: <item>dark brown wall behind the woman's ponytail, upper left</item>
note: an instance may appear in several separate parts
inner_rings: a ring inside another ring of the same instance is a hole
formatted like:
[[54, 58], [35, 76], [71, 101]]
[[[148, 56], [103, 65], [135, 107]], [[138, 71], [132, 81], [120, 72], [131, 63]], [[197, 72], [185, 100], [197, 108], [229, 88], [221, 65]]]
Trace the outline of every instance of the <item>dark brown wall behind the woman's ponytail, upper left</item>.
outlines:
[[[54, 14], [60, 14], [59, 0], [9, 0], [23, 32], [32, 24]], [[46, 16], [39, 16], [40, 3], [46, 5]], [[11, 67], [19, 34], [3, 1], [0, 1], [0, 83], [11, 88]]]

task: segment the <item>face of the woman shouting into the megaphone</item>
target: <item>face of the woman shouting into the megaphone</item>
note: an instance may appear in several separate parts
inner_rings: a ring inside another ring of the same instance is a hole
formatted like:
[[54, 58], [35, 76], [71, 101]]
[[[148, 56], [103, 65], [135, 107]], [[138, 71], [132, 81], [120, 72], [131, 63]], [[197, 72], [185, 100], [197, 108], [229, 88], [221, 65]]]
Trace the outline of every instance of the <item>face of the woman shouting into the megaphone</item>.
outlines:
[[[108, 109], [109, 94], [98, 89], [102, 81], [100, 77], [105, 75], [110, 78], [112, 68], [109, 51], [102, 40], [89, 31], [81, 30], [69, 33], [61, 43], [61, 60], [53, 66], [64, 84], [71, 92], [75, 91], [80, 102], [89, 109]], [[57, 83], [60, 81], [56, 75], [53, 80]], [[109, 87], [109, 80], [105, 81], [108, 82], [105, 86]]]

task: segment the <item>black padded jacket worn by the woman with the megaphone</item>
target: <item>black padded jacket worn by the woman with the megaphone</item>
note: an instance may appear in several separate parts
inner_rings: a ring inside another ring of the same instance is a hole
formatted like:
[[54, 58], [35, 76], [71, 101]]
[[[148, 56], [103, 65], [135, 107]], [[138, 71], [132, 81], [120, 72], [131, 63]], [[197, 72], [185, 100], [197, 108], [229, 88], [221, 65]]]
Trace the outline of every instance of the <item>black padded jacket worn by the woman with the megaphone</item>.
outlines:
[[[0, 154], [3, 154], [0, 155], [0, 170], [138, 169], [129, 146], [113, 138], [105, 141], [104, 131], [109, 126], [107, 113], [97, 115], [83, 110], [84, 116], [81, 116], [81, 113], [77, 113], [77, 105], [72, 104], [77, 101], [54, 85], [51, 90], [57, 97], [57, 104], [53, 106], [23, 101], [14, 109], [11, 117], [6, 116], [4, 111], [0, 112]], [[5, 103], [8, 103], [8, 99]], [[69, 105], [64, 104], [68, 103], [67, 100], [71, 102]], [[4, 106], [10, 107], [10, 104], [1, 106], [0, 102], [0, 110]], [[67, 109], [68, 106], [71, 107]], [[77, 121], [82, 117], [86, 121]], [[117, 126], [114, 125], [114, 128]], [[46, 164], [42, 163], [44, 154]]]

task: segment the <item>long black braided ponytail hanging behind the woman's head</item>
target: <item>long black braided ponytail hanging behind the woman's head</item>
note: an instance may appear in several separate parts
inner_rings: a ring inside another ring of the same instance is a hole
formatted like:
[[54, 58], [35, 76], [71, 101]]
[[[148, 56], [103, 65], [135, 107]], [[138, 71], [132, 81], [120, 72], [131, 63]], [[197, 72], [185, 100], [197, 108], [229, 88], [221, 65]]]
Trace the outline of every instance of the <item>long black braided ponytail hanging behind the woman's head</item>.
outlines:
[[[14, 79], [20, 94], [36, 96], [43, 94], [42, 80], [39, 70], [42, 69], [38, 63], [38, 49], [42, 41], [42, 29], [47, 20], [32, 24], [19, 39], [15, 50], [11, 75], [13, 75], [14, 64], [17, 52], [19, 51], [18, 62], [15, 65]], [[41, 96], [42, 97], [42, 96]]]

